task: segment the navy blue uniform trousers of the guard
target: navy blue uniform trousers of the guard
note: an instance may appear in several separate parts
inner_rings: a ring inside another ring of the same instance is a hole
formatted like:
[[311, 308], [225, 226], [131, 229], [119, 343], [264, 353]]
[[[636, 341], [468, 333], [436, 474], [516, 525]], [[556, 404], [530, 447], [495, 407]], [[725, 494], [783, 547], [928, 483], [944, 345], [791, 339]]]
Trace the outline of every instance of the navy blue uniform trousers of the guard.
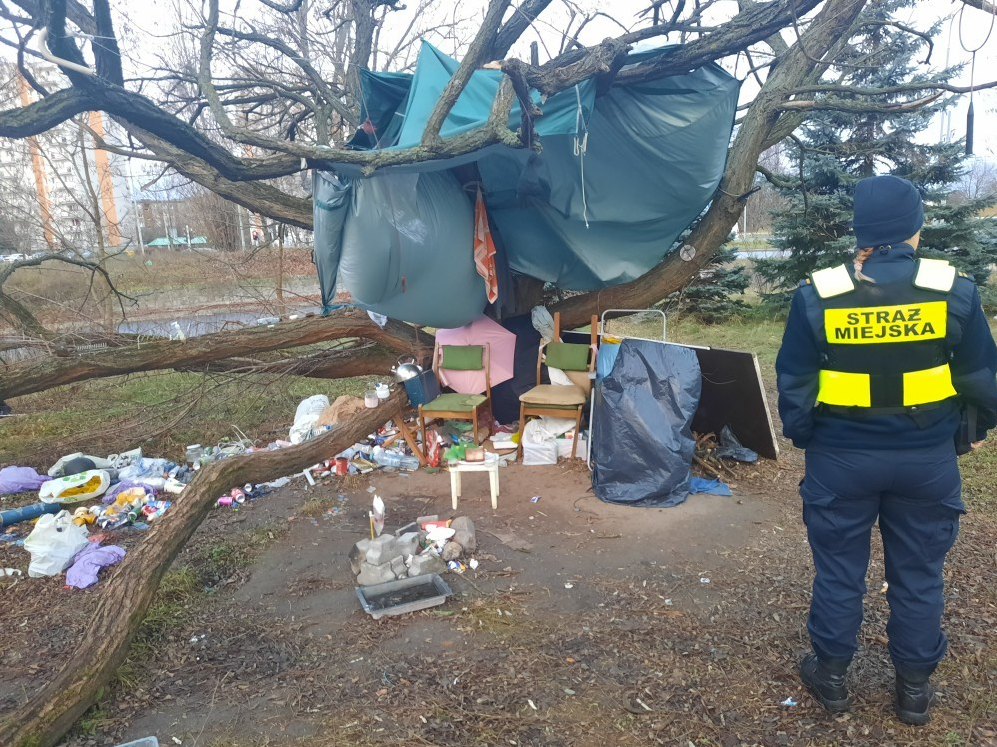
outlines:
[[955, 446], [815, 446], [800, 484], [816, 575], [807, 628], [825, 660], [850, 660], [862, 623], [872, 527], [886, 556], [894, 664], [931, 673], [945, 654], [942, 565], [964, 512]]

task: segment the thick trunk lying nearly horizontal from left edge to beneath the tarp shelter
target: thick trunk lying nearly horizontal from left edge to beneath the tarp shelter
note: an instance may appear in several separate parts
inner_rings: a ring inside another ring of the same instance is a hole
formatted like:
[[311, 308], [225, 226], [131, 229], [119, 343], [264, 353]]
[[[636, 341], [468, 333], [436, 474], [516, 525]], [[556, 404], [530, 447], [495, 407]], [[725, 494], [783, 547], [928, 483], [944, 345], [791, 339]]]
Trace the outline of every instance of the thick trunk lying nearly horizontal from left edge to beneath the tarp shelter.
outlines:
[[355, 309], [328, 317], [287, 321], [273, 327], [253, 327], [186, 340], [154, 340], [70, 357], [32, 358], [0, 369], [0, 400], [41, 392], [87, 379], [121, 376], [166, 368], [192, 369], [226, 358], [361, 337], [392, 350], [410, 353], [425, 362], [432, 352], [432, 337], [401, 322], [383, 328]]

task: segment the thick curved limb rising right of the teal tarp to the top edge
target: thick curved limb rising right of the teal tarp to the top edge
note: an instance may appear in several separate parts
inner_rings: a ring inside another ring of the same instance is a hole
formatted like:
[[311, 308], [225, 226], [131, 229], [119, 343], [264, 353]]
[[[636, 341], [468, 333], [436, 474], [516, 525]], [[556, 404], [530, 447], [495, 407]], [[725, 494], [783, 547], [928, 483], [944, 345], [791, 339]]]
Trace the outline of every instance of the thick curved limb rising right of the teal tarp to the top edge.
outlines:
[[685, 287], [727, 240], [752, 189], [758, 159], [769, 144], [785, 103], [821, 58], [847, 36], [867, 0], [828, 0], [810, 27], [790, 46], [755, 98], [730, 148], [727, 166], [710, 207], [685, 240], [682, 250], [669, 254], [649, 273], [602, 291], [554, 304], [564, 324], [584, 324], [605, 309], [640, 309]]

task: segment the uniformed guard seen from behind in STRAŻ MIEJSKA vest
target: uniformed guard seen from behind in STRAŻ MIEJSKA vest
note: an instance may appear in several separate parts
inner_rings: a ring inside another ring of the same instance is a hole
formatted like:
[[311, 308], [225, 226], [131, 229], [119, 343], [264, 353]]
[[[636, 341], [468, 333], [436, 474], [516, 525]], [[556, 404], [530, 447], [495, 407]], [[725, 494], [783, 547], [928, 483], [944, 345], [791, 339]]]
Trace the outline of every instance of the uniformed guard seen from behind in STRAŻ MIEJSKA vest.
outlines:
[[928, 678], [946, 649], [942, 564], [964, 512], [960, 413], [974, 414], [974, 447], [997, 424], [997, 347], [976, 286], [915, 257], [923, 222], [907, 180], [858, 182], [855, 259], [800, 283], [776, 361], [783, 431], [806, 449], [800, 494], [816, 570], [800, 677], [827, 710], [848, 709], [878, 520], [896, 713], [916, 725], [928, 722]]

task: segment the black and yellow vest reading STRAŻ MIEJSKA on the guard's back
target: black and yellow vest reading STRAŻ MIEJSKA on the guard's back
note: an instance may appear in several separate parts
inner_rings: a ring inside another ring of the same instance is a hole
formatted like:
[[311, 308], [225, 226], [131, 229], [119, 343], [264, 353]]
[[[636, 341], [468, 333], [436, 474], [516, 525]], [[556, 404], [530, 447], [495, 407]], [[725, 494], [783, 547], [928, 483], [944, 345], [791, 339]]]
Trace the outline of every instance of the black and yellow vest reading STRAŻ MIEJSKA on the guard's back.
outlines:
[[825, 351], [817, 402], [890, 414], [955, 397], [945, 335], [957, 275], [933, 259], [917, 261], [912, 281], [860, 282], [847, 265], [813, 273], [813, 326]]

